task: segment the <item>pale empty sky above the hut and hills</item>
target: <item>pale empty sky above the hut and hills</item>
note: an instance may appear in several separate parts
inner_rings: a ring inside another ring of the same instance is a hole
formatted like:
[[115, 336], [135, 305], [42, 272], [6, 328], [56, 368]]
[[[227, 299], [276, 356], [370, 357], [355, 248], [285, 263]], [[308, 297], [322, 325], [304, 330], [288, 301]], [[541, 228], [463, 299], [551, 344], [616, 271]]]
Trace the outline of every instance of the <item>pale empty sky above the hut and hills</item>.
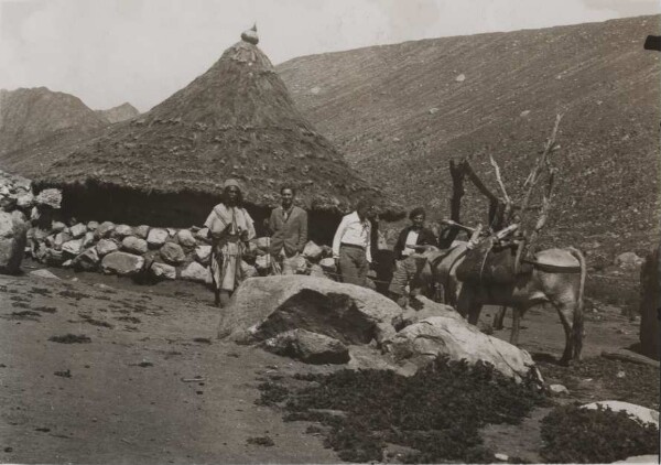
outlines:
[[660, 12], [659, 0], [0, 0], [0, 88], [46, 86], [94, 109], [129, 101], [144, 111], [204, 73], [254, 21], [278, 64]]

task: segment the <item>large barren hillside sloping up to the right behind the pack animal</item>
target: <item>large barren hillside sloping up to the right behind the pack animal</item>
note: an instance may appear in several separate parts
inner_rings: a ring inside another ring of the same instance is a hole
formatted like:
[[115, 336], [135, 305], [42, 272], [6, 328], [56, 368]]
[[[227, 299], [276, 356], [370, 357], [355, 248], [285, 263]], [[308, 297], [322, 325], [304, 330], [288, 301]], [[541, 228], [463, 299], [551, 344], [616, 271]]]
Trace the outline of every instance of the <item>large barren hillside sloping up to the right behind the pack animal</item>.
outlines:
[[[472, 156], [496, 187], [491, 153], [520, 187], [564, 112], [545, 238], [610, 255], [658, 237], [661, 54], [643, 43], [660, 19], [407, 42], [304, 56], [279, 72], [350, 164], [434, 216], [448, 212], [449, 159]], [[476, 221], [473, 204], [465, 218]]]

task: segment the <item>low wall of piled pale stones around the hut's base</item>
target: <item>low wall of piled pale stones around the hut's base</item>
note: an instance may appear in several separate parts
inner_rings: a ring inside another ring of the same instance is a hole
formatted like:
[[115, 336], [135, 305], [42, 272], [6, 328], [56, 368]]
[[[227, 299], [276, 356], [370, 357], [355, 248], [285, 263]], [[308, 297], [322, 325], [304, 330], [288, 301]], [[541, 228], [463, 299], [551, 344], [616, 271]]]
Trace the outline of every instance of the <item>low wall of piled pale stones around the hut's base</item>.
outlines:
[[[77, 221], [64, 218], [58, 190], [32, 192], [29, 180], [0, 172], [0, 207], [22, 218], [26, 231], [25, 253], [54, 267], [150, 280], [183, 279], [209, 284], [212, 246], [206, 228], [158, 228], [111, 221]], [[246, 275], [267, 274], [271, 267], [269, 239], [250, 242], [242, 268]], [[308, 242], [301, 257], [301, 274], [333, 275], [335, 264], [328, 247]]]

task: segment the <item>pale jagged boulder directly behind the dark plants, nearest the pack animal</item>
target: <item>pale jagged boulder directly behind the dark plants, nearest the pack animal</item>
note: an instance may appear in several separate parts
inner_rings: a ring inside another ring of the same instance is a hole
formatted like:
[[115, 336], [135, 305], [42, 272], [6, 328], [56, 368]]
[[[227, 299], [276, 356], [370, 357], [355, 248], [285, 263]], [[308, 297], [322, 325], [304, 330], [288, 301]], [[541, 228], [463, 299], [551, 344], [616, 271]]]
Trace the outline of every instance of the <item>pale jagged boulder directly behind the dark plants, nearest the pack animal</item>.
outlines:
[[[441, 312], [436, 309], [436, 312]], [[483, 334], [476, 326], [448, 310], [443, 316], [432, 316], [404, 327], [382, 346], [400, 365], [423, 367], [447, 356], [468, 364], [487, 361], [507, 377], [520, 381], [527, 378], [534, 363], [530, 354], [505, 340]]]

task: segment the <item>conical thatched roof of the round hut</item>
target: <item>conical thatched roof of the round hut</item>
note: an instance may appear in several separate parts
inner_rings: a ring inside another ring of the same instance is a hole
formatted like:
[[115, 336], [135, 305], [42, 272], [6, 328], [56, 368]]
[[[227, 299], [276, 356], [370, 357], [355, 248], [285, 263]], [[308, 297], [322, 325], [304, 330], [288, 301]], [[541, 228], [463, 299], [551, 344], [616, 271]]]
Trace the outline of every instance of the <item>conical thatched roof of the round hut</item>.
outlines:
[[342, 213], [372, 197], [383, 212], [401, 213], [303, 118], [269, 58], [245, 41], [142, 117], [78, 144], [35, 181], [217, 196], [228, 177], [242, 183], [257, 207], [271, 206], [291, 183], [311, 209]]

